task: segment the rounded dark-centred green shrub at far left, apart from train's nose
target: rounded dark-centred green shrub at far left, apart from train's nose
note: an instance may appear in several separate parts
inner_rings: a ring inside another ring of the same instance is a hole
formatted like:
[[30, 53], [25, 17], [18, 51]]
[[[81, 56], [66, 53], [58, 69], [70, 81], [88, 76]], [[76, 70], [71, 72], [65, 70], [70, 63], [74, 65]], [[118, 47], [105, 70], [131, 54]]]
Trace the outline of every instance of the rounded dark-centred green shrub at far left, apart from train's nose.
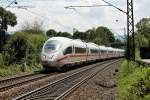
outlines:
[[34, 48], [34, 45], [28, 40], [27, 36], [23, 33], [16, 33], [5, 46], [4, 61], [7, 65], [24, 63], [31, 48]]

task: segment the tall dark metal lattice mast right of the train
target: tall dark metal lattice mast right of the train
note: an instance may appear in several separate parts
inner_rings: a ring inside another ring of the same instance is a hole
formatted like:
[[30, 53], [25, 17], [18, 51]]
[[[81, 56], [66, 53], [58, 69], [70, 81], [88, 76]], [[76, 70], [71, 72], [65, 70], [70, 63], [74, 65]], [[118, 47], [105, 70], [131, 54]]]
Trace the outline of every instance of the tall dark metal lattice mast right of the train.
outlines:
[[135, 60], [133, 0], [127, 0], [127, 40], [127, 58]]

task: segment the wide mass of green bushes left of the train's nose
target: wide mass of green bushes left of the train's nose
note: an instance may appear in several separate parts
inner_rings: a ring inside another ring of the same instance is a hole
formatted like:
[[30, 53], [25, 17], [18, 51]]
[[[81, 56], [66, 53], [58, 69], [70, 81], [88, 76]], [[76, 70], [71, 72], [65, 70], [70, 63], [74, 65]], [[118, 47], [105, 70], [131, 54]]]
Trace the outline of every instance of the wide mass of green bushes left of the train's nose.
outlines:
[[6, 65], [36, 65], [46, 36], [42, 34], [15, 33], [5, 46], [4, 61]]

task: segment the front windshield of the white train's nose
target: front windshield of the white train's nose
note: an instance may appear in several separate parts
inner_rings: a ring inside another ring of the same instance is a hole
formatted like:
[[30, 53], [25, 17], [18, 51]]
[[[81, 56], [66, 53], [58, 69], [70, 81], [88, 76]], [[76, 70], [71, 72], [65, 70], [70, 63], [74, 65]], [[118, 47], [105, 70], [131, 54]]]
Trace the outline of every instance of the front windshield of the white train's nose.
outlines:
[[45, 52], [55, 51], [58, 47], [58, 41], [48, 41], [44, 47]]

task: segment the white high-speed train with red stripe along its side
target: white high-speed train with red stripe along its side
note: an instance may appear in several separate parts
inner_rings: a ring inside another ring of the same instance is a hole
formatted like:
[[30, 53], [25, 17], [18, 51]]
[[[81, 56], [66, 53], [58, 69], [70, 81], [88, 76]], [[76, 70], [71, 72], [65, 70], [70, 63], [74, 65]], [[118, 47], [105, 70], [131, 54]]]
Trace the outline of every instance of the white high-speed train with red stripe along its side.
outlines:
[[86, 43], [78, 39], [52, 37], [42, 48], [41, 62], [44, 67], [71, 66], [106, 58], [123, 57], [124, 50]]

